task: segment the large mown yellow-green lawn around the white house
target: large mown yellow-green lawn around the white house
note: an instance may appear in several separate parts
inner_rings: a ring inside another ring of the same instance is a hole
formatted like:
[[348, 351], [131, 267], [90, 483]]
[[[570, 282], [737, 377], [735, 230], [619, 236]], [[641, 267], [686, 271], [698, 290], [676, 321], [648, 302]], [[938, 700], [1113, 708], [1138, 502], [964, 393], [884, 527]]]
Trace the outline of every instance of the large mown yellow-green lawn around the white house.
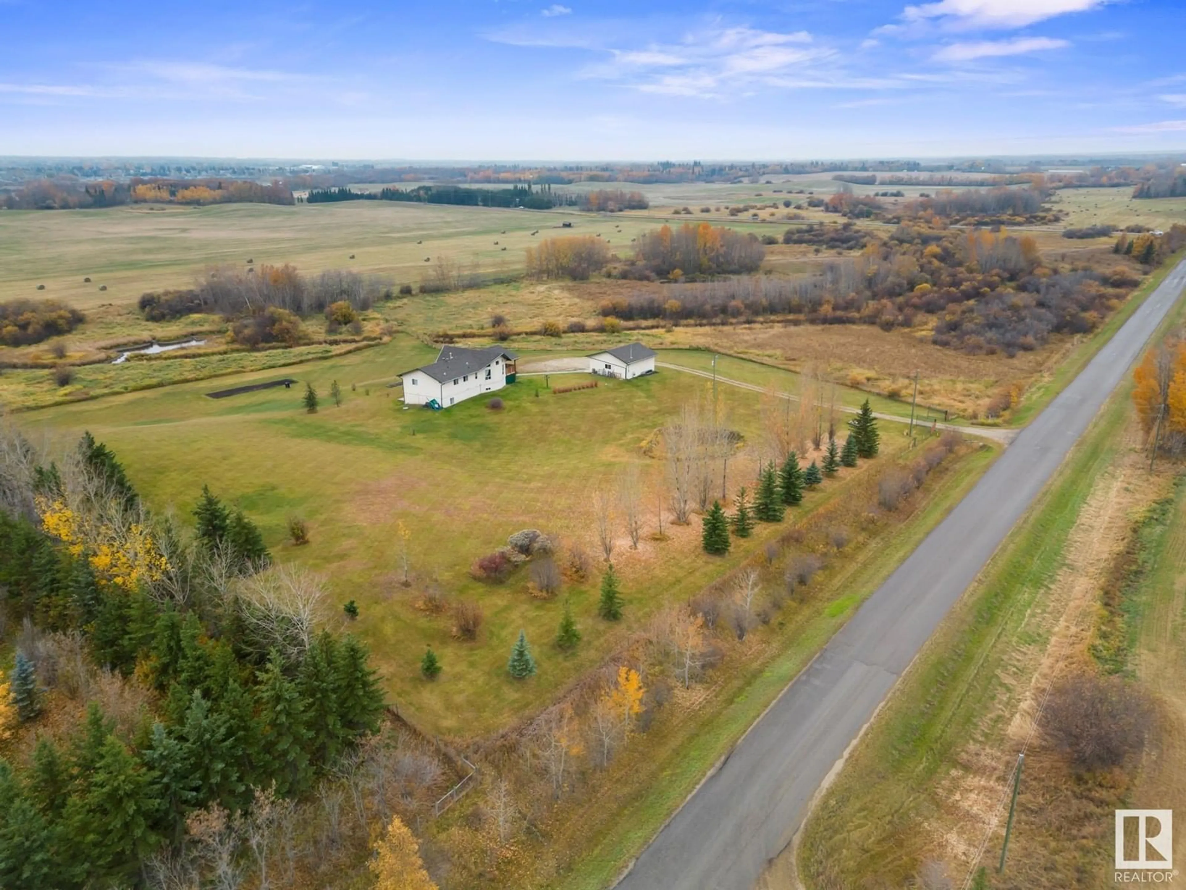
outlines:
[[[202, 485], [209, 484], [260, 526], [276, 558], [326, 573], [334, 614], [340, 616], [347, 599], [358, 603], [356, 630], [370, 644], [402, 712], [432, 732], [473, 737], [548, 700], [649, 614], [699, 591], [746, 548], [723, 561], [704, 557], [695, 519], [684, 528], [665, 522], [668, 541], [646, 538], [656, 530], [649, 504], [656, 503], [663, 465], [645, 457], [642, 444], [682, 403], [706, 398], [707, 381], [659, 373], [553, 395], [542, 379], [523, 377], [499, 393], [502, 412], [489, 411], [482, 399], [435, 414], [403, 411], [397, 390], [384, 383], [434, 355], [400, 337], [282, 373], [255, 371], [32, 412], [20, 415], [20, 425], [34, 441], [72, 439], [89, 430], [115, 451], [151, 506], [172, 507], [186, 521]], [[280, 376], [300, 383], [224, 400], [204, 395]], [[340, 408], [329, 400], [333, 380], [344, 392]], [[300, 407], [306, 381], [321, 394], [313, 415]], [[720, 409], [728, 425], [751, 443], [729, 463], [731, 496], [737, 484], [748, 482], [760, 453], [759, 401], [754, 393], [721, 388]], [[891, 458], [906, 446], [888, 428], [882, 443]], [[640, 468], [648, 506], [639, 549], [631, 552], [629, 541], [619, 540], [614, 551], [626, 597], [620, 627], [594, 616], [597, 572], [550, 602], [529, 596], [522, 572], [503, 586], [468, 577], [473, 559], [521, 528], [538, 527], [595, 552], [592, 492], [612, 489], [616, 473], [627, 465]], [[843, 478], [854, 472], [862, 470], [844, 471], [840, 482], [809, 495], [806, 508], [841, 496]], [[292, 515], [310, 523], [306, 547], [285, 542]], [[400, 584], [400, 521], [410, 532], [410, 587]], [[760, 535], [753, 541], [759, 547]], [[477, 643], [452, 640], [447, 617], [416, 608], [429, 585], [482, 604], [486, 623]], [[566, 598], [587, 641], [572, 657], [559, 656], [549, 644]], [[505, 673], [521, 628], [541, 665], [529, 684], [515, 684]], [[434, 685], [419, 676], [426, 643], [445, 666]]]

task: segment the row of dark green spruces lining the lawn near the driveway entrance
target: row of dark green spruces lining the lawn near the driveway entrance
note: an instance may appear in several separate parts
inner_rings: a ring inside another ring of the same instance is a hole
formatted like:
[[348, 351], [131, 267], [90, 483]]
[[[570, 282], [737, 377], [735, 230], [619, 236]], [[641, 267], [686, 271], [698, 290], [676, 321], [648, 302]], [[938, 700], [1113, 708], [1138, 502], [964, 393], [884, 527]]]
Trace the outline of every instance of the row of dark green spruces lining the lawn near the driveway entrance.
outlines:
[[843, 449], [834, 436], [828, 440], [822, 466], [812, 460], [804, 470], [799, 466], [799, 456], [791, 451], [782, 466], [770, 463], [760, 468], [752, 503], [745, 488], [738, 491], [732, 516], [726, 515], [720, 501], [713, 501], [703, 519], [701, 543], [704, 552], [714, 555], [728, 553], [731, 532], [733, 536], [748, 538], [757, 522], [782, 522], [786, 508], [802, 503], [803, 492], [820, 485], [825, 476], [835, 476], [841, 466], [856, 466], [859, 458], [876, 457], [881, 434], [868, 399], [848, 426]]

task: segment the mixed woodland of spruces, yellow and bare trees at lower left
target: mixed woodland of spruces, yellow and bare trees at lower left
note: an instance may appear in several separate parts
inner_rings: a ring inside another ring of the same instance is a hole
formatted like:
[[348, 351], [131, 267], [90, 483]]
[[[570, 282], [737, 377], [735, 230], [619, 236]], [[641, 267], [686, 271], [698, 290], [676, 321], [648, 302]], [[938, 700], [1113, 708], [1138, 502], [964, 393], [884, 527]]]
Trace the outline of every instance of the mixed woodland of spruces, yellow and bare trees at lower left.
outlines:
[[[242, 511], [204, 489], [190, 534], [89, 434], [60, 463], [0, 439], [0, 615], [38, 733], [0, 759], [0, 884], [139, 885], [203, 820], [300, 799], [378, 729], [365, 650], [319, 629], [319, 581], [272, 565]], [[117, 694], [70, 718], [95, 682]]]

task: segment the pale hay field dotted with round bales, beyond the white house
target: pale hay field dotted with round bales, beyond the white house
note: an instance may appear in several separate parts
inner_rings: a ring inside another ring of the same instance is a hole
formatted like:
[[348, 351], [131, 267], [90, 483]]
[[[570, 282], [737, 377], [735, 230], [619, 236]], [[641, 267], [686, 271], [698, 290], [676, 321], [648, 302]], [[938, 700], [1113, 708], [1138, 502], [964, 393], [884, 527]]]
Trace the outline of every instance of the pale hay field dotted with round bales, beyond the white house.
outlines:
[[[561, 229], [562, 222], [573, 228]], [[0, 300], [57, 298], [83, 310], [129, 304], [145, 291], [186, 287], [208, 266], [248, 259], [256, 266], [291, 262], [301, 272], [377, 272], [398, 284], [419, 282], [432, 265], [425, 259], [439, 256], [465, 269], [510, 274], [522, 271], [523, 249], [549, 235], [601, 233], [617, 248], [653, 225], [575, 211], [385, 201], [5, 211]]]

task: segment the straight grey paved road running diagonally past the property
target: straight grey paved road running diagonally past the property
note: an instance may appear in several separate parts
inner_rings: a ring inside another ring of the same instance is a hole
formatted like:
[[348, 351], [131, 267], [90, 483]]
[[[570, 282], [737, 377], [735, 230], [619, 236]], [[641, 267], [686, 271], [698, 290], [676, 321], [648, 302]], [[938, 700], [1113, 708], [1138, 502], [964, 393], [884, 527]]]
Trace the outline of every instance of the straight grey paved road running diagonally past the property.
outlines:
[[824, 776], [1050, 479], [1186, 287], [1180, 263], [752, 727], [620, 882], [751, 890]]

